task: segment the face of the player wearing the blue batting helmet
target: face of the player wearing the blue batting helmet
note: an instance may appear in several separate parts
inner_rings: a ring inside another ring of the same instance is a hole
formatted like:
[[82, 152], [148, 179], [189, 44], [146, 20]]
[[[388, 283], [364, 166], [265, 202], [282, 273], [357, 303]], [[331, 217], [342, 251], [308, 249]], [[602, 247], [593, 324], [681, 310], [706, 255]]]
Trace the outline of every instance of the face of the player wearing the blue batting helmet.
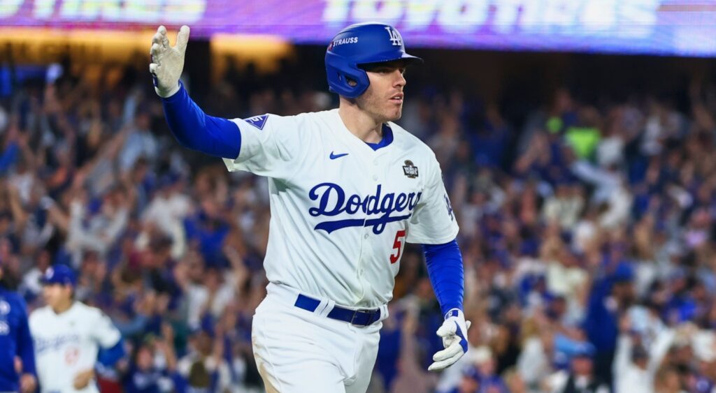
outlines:
[[365, 66], [370, 85], [356, 99], [358, 107], [380, 123], [396, 121], [402, 115], [405, 62], [389, 61]]

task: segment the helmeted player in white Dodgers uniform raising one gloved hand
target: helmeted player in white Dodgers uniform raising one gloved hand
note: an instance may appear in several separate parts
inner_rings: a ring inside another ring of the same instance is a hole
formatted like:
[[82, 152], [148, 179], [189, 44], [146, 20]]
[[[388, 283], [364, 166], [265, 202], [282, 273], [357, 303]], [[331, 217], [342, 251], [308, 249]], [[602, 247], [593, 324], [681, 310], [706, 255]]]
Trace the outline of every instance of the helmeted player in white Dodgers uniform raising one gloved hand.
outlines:
[[269, 392], [365, 392], [405, 242], [423, 244], [445, 322], [440, 370], [467, 351], [458, 224], [435, 154], [393, 123], [403, 72], [421, 59], [390, 25], [356, 24], [326, 51], [338, 109], [248, 119], [206, 115], [179, 81], [189, 28], [175, 46], [160, 26], [150, 49], [157, 94], [180, 144], [229, 171], [269, 179], [266, 299], [253, 354]]

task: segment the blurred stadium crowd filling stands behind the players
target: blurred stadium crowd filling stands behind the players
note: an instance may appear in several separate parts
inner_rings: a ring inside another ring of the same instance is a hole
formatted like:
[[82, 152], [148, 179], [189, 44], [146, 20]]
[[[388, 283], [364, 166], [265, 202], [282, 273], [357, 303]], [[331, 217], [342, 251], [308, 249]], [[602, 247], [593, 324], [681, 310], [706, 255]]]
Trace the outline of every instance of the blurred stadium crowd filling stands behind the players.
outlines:
[[[0, 101], [4, 281], [33, 309], [44, 269], [77, 270], [77, 298], [130, 345], [99, 370], [102, 392], [261, 392], [266, 181], [182, 149], [145, 66], [92, 79], [66, 65]], [[230, 70], [195, 99], [228, 118], [335, 104], [301, 75]], [[442, 316], [408, 247], [369, 392], [715, 392], [716, 89], [684, 89], [687, 109], [558, 89], [516, 127], [409, 76], [400, 124], [442, 164], [472, 348], [426, 371]]]

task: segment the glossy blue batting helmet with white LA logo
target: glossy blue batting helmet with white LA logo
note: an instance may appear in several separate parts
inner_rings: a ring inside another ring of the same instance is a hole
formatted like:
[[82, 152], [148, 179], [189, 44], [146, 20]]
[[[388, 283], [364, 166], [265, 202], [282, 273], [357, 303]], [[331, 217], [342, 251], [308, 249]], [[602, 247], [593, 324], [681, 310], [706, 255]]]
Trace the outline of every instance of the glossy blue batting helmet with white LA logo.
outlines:
[[356, 98], [370, 84], [368, 75], [360, 68], [362, 64], [400, 59], [422, 62], [420, 57], [405, 53], [402, 36], [395, 27], [375, 22], [348, 26], [334, 36], [326, 50], [329, 90]]

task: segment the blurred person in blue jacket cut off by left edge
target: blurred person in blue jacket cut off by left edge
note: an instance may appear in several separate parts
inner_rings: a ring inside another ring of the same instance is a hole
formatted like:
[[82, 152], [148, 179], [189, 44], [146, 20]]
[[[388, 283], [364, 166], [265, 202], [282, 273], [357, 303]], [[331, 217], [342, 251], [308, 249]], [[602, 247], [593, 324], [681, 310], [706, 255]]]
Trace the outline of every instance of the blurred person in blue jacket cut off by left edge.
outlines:
[[34, 392], [37, 387], [26, 309], [22, 297], [4, 285], [0, 262], [0, 392]]

